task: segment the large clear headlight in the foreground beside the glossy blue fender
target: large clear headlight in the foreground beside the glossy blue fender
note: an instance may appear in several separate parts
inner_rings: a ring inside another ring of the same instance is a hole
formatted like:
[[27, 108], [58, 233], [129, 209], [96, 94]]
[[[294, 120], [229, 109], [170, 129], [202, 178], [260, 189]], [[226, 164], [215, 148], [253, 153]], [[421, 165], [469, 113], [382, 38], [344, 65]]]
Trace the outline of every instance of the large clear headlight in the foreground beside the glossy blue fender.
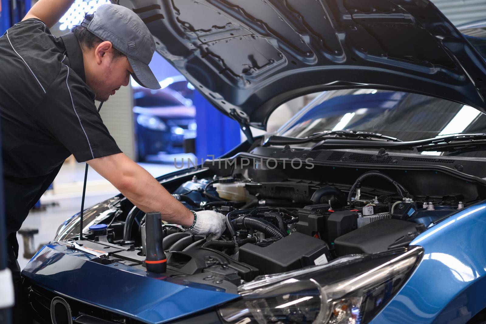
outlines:
[[351, 255], [325, 265], [265, 275], [238, 288], [219, 309], [227, 324], [363, 324], [399, 291], [423, 249]]

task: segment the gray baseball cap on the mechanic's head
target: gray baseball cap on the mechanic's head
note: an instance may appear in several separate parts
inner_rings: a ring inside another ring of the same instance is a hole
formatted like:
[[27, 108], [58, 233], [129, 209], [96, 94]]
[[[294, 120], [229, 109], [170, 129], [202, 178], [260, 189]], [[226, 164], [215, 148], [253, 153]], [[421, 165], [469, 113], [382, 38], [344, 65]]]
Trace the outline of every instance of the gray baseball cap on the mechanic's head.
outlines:
[[84, 19], [81, 25], [126, 55], [134, 72], [132, 77], [139, 85], [160, 89], [149, 68], [155, 51], [154, 38], [137, 14], [121, 5], [104, 4], [96, 9], [91, 21]]

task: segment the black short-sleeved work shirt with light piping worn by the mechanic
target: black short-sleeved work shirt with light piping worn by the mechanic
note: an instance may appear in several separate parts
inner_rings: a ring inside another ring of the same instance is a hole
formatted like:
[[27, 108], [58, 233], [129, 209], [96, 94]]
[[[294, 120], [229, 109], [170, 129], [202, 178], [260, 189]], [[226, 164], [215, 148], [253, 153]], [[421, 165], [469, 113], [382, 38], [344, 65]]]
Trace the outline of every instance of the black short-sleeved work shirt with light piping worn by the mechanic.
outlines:
[[76, 37], [39, 19], [0, 37], [1, 154], [7, 235], [16, 232], [62, 163], [120, 153], [86, 84]]

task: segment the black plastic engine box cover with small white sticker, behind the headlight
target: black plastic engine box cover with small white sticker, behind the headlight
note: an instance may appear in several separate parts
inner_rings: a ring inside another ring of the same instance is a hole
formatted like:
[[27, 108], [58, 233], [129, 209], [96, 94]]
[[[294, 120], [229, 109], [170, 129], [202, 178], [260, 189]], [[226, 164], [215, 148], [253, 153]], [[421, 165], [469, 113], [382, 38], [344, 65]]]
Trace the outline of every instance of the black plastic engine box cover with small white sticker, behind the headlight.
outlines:
[[326, 254], [327, 244], [312, 236], [294, 233], [266, 247], [245, 244], [240, 248], [240, 261], [269, 274], [314, 265], [315, 259]]

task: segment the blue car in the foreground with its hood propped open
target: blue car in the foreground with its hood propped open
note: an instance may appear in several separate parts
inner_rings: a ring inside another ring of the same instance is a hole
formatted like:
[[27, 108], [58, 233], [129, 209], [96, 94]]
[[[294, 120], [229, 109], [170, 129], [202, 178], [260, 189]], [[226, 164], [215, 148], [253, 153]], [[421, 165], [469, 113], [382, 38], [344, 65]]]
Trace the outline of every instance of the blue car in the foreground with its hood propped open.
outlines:
[[[83, 228], [71, 216], [22, 271], [37, 323], [486, 323], [481, 28], [464, 36], [428, 0], [131, 5], [247, 136], [158, 178], [226, 231], [148, 232], [121, 195]], [[148, 270], [160, 244], [166, 270]]]

